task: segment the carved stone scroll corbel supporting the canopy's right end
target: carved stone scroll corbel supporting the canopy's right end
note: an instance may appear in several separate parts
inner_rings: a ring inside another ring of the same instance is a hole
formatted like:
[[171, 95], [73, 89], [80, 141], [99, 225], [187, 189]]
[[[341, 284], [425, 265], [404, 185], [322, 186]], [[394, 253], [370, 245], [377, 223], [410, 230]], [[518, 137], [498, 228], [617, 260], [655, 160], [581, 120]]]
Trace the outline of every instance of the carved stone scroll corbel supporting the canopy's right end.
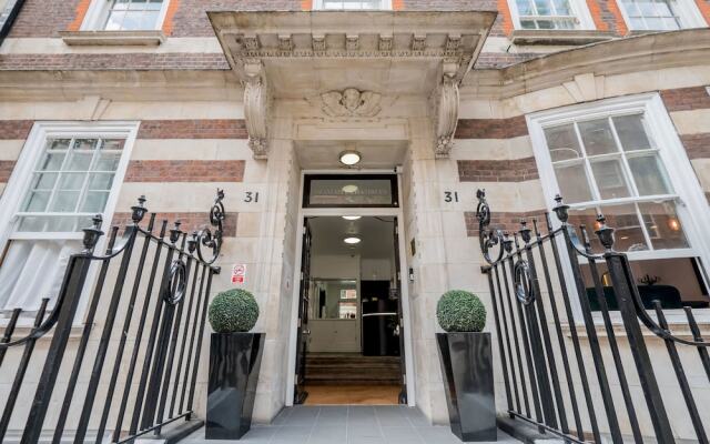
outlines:
[[447, 158], [454, 147], [454, 133], [458, 124], [457, 71], [458, 63], [444, 63], [442, 82], [434, 97], [436, 110], [434, 151], [437, 158]]

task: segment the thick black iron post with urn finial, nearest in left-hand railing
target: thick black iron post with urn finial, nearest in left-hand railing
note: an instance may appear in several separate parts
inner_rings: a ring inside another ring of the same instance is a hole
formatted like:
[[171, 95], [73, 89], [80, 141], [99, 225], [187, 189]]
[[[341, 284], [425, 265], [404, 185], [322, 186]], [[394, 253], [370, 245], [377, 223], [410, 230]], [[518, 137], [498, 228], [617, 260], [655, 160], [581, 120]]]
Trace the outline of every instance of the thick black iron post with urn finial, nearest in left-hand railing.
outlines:
[[[42, 374], [37, 384], [34, 400], [32, 401], [30, 414], [24, 425], [22, 440], [20, 441], [21, 444], [36, 444], [42, 433], [42, 425], [52, 398], [57, 376], [62, 365], [62, 357], [67, 350], [67, 343], [69, 342], [69, 334], [71, 333], [71, 326], [77, 314], [79, 300], [81, 299], [81, 293], [87, 282], [93, 249], [97, 246], [99, 238], [103, 234], [100, 229], [102, 222], [101, 215], [97, 215], [93, 219], [93, 226], [83, 230], [83, 252], [69, 258], [67, 272], [58, 299], [62, 300], [62, 306], [57, 307], [59, 309], [57, 326], [54, 327], [52, 342], [47, 353], [47, 361], [44, 362]], [[63, 299], [62, 295], [64, 296]]]

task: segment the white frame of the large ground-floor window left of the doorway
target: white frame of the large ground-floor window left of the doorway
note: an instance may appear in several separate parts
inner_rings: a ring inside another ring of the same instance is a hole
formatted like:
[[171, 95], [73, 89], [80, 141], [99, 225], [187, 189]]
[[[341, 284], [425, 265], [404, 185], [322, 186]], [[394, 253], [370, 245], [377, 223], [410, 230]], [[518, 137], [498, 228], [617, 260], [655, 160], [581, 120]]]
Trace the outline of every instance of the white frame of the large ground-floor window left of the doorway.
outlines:
[[[113, 220], [115, 206], [119, 200], [119, 193], [125, 171], [128, 170], [129, 161], [131, 158], [131, 151], [135, 143], [138, 135], [139, 122], [36, 122], [30, 131], [20, 157], [16, 163], [10, 180], [7, 183], [4, 192], [0, 198], [0, 208], [3, 209], [0, 212], [0, 248], [4, 251], [7, 243], [12, 238], [13, 226], [17, 222], [17, 213], [20, 211], [24, 196], [32, 181], [32, 172], [38, 164], [40, 158], [44, 153], [44, 147], [48, 138], [120, 138], [125, 139], [123, 145], [123, 153], [119, 165], [115, 170], [111, 191], [109, 192], [109, 199], [103, 215], [102, 230], [108, 233], [108, 229]], [[37, 233], [32, 239], [78, 239], [83, 238], [82, 232], [77, 233]], [[106, 236], [102, 236], [100, 243], [97, 245], [95, 251], [102, 251], [103, 243]], [[92, 282], [93, 279], [90, 275], [87, 282]], [[82, 306], [80, 311], [82, 313]], [[78, 316], [78, 319], [81, 316]], [[31, 323], [31, 320], [27, 320]], [[7, 319], [0, 319], [0, 326], [7, 323]], [[21, 323], [18, 325], [23, 326]]]

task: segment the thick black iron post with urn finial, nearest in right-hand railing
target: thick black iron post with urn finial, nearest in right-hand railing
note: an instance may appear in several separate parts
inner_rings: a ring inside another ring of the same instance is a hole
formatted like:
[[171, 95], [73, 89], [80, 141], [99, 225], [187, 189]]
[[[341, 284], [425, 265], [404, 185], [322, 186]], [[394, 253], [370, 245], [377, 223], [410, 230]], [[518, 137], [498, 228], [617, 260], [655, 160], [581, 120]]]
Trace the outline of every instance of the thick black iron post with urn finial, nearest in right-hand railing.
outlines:
[[604, 258], [607, 261], [607, 269], [611, 278], [613, 293], [619, 304], [619, 312], [623, 320], [623, 327], [629, 340], [629, 346], [633, 355], [633, 362], [639, 373], [639, 381], [646, 397], [646, 404], [651, 416], [651, 423], [656, 432], [659, 444], [674, 443], [673, 433], [668, 421], [668, 414], [663, 406], [653, 365], [646, 347], [646, 341], [639, 320], [637, 317], [637, 306], [635, 303], [635, 292], [638, 291], [633, 275], [629, 266], [626, 254], [613, 251], [613, 229], [607, 226], [604, 218], [600, 218], [601, 226], [596, 231], [601, 244], [606, 249]]

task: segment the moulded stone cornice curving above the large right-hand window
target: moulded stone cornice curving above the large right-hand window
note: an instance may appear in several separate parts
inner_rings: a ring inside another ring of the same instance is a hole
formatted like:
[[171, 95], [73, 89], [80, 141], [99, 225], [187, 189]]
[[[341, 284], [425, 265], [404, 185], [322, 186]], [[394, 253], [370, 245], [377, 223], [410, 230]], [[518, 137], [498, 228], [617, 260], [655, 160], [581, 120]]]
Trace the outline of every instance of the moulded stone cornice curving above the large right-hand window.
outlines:
[[613, 75], [663, 68], [707, 64], [710, 29], [643, 34], [544, 54], [503, 69], [473, 70], [462, 82], [462, 95], [505, 99], [562, 85], [594, 73]]

